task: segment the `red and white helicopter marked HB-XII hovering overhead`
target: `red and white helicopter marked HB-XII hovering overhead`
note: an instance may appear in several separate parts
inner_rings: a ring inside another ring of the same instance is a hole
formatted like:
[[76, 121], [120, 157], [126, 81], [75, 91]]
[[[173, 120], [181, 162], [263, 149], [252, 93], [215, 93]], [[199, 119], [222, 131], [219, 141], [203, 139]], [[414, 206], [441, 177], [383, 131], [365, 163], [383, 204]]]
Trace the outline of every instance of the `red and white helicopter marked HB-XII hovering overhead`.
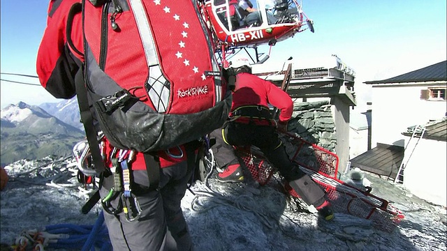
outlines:
[[[250, 8], [244, 10], [241, 1]], [[296, 0], [205, 0], [200, 9], [222, 59], [228, 50], [251, 47], [259, 63], [258, 45], [273, 46], [307, 29], [314, 32], [314, 22]]]

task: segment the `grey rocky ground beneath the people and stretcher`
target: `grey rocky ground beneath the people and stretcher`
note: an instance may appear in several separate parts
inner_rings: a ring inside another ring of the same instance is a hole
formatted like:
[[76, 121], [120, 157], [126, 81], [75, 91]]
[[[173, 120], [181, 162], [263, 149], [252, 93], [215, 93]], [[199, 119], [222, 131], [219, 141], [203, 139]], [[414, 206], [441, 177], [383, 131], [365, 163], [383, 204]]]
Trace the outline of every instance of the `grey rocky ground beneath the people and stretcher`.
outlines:
[[[99, 206], [87, 215], [80, 213], [91, 190], [78, 183], [71, 158], [21, 160], [6, 170], [10, 181], [0, 194], [1, 250], [8, 250], [31, 229], [91, 226], [98, 220]], [[277, 176], [262, 186], [250, 178], [245, 183], [223, 184], [210, 176], [207, 183], [197, 181], [186, 191], [182, 208], [199, 251], [447, 250], [446, 208], [414, 197], [379, 176], [365, 174], [365, 178], [373, 195], [390, 201], [405, 215], [397, 227], [391, 221], [382, 221], [386, 227], [381, 227], [380, 220], [366, 220], [344, 210], [337, 211], [331, 222], [322, 222], [312, 207], [281, 192]], [[77, 244], [45, 250], [81, 250], [82, 241]]]

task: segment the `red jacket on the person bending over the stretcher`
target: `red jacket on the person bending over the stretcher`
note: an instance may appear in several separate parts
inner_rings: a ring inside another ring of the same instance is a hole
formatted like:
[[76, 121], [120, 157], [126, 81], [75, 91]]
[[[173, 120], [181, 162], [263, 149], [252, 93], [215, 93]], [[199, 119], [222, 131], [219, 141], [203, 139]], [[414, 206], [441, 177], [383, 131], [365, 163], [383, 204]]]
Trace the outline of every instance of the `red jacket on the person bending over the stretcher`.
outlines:
[[244, 105], [263, 105], [268, 104], [277, 107], [279, 122], [286, 123], [291, 119], [293, 113], [293, 101], [285, 91], [282, 91], [272, 82], [265, 81], [256, 75], [249, 73], [239, 73], [236, 76], [236, 87], [233, 93], [233, 104], [231, 111]]

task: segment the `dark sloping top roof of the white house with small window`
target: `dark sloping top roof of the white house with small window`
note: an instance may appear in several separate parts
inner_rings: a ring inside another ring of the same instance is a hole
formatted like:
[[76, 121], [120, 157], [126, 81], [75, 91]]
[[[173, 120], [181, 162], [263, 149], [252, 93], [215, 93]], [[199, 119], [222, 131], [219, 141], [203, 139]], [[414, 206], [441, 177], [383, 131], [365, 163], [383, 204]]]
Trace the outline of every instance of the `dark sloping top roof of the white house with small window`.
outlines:
[[409, 82], [447, 81], [447, 61], [435, 63], [434, 65], [413, 70], [412, 72], [391, 77], [389, 79], [367, 81], [365, 84], [388, 84]]

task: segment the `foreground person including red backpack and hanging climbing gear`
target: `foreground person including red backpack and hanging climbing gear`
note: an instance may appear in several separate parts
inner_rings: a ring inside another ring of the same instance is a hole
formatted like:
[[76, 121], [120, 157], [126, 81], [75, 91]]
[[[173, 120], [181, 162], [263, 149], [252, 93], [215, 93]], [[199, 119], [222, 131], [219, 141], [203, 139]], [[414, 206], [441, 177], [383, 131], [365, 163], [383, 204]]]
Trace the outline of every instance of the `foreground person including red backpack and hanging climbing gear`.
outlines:
[[200, 4], [50, 1], [38, 76], [53, 96], [78, 96], [91, 152], [79, 166], [91, 156], [87, 175], [101, 176], [115, 250], [192, 248], [179, 201], [196, 142], [232, 101]]

